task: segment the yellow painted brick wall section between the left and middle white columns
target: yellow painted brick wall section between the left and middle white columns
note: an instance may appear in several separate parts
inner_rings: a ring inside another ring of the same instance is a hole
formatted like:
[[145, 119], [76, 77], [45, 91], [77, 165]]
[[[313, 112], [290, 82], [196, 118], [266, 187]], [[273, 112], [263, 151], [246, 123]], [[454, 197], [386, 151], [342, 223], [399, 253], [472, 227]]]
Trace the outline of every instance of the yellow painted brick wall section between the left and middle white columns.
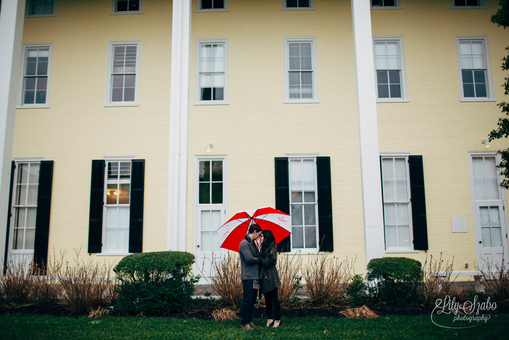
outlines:
[[[50, 255], [87, 255], [91, 164], [103, 156], [145, 159], [143, 249], [166, 249], [172, 2], [110, 11], [110, 1], [61, 0], [56, 17], [24, 20], [23, 43], [53, 43], [50, 108], [16, 110], [13, 149], [14, 158], [54, 161]], [[141, 41], [138, 107], [104, 107], [115, 40]]]

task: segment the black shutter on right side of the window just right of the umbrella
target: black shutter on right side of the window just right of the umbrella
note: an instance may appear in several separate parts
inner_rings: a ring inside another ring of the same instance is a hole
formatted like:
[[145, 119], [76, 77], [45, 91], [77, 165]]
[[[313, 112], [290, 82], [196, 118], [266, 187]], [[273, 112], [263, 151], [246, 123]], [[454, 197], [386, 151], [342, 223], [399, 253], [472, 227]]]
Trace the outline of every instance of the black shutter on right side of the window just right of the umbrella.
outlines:
[[318, 184], [318, 242], [320, 251], [333, 251], [332, 191], [330, 186], [330, 157], [317, 157]]

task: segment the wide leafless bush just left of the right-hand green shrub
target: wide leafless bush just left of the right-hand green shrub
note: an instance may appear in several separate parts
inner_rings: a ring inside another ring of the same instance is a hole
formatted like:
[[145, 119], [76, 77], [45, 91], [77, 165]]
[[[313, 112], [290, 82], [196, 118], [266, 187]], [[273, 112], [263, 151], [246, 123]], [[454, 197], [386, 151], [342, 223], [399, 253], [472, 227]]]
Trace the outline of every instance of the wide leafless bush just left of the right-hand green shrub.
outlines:
[[309, 302], [314, 305], [335, 305], [347, 298], [344, 296], [352, 278], [355, 261], [328, 258], [328, 254], [310, 255], [305, 267], [306, 287]]

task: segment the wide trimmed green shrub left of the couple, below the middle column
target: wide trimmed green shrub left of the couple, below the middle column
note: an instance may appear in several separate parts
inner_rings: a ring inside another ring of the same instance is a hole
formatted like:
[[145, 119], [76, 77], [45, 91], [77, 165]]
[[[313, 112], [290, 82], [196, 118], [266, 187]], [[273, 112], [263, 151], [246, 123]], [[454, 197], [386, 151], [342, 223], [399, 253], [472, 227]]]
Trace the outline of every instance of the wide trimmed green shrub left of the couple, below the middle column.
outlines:
[[124, 257], [114, 271], [120, 281], [116, 307], [122, 313], [166, 315], [191, 305], [194, 255], [183, 251], [136, 253]]

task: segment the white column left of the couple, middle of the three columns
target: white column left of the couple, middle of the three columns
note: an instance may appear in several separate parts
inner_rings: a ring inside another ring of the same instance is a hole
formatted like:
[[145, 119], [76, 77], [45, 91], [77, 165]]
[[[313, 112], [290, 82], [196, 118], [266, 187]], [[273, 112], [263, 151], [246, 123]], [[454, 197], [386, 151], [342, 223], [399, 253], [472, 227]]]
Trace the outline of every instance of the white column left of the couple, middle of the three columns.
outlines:
[[191, 1], [173, 1], [166, 248], [187, 250], [187, 139]]

